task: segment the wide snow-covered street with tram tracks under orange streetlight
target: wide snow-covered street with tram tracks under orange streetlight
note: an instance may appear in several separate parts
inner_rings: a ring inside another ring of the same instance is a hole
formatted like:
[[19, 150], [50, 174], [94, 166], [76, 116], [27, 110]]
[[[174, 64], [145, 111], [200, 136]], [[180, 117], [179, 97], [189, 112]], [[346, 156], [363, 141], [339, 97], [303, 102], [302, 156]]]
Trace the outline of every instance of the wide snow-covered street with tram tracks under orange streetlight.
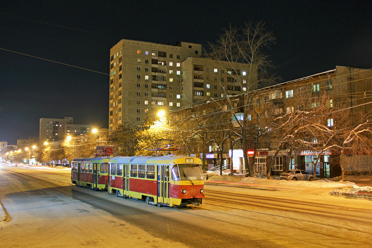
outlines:
[[198, 207], [155, 207], [71, 185], [69, 170], [0, 165], [0, 247], [372, 247], [372, 201], [205, 185]]

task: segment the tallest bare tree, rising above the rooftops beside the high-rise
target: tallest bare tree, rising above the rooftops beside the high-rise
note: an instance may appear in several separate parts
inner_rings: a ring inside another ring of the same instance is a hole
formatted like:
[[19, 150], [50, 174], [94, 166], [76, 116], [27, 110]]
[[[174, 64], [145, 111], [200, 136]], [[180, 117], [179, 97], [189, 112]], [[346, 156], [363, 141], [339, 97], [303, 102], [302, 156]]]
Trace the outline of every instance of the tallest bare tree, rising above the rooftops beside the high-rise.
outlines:
[[[270, 45], [274, 44], [275, 38], [272, 32], [264, 28], [262, 22], [248, 22], [243, 28], [229, 26], [223, 29], [224, 33], [214, 44], [209, 44], [210, 52], [208, 57], [218, 68], [226, 70], [235, 81], [239, 82], [244, 91], [243, 122], [238, 122], [241, 128], [243, 150], [247, 151], [247, 115], [248, 106], [252, 104], [254, 93], [259, 84], [273, 82], [275, 78], [268, 76], [268, 68], [271, 67], [268, 57], [265, 55]], [[227, 63], [226, 63], [227, 62]], [[239, 68], [237, 63], [248, 65], [245, 84], [237, 77]], [[232, 108], [232, 106], [231, 106]], [[244, 162], [249, 164], [246, 152]], [[251, 172], [248, 166], [248, 176]]]

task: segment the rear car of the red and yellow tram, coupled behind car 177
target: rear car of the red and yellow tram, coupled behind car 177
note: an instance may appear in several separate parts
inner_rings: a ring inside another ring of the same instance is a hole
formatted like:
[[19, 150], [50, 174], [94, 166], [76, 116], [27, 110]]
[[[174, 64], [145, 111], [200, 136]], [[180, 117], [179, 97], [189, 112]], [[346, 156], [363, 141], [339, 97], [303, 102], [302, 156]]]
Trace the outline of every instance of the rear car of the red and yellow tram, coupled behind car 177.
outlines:
[[108, 188], [109, 157], [75, 158], [71, 162], [71, 183], [93, 190]]

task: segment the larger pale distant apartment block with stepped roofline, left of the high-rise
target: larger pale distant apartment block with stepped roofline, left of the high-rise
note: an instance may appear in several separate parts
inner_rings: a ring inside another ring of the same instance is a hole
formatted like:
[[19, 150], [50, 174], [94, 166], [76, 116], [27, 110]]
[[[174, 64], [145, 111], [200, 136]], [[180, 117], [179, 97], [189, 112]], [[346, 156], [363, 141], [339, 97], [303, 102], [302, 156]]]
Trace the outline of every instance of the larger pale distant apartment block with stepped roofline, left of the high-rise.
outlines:
[[67, 135], [77, 136], [91, 132], [92, 129], [92, 125], [74, 124], [73, 117], [40, 118], [39, 142], [59, 141]]

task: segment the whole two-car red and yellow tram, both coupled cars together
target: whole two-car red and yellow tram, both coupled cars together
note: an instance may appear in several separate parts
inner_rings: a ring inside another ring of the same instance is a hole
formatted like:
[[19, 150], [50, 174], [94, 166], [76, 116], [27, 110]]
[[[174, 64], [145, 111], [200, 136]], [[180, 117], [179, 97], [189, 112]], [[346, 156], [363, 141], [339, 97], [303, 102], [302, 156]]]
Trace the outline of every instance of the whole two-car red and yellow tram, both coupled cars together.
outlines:
[[77, 158], [72, 162], [72, 183], [101, 189], [101, 181], [94, 184], [94, 177], [101, 175], [98, 168], [107, 163], [107, 189], [116, 196], [171, 207], [201, 204], [204, 198], [201, 160], [182, 155]]

